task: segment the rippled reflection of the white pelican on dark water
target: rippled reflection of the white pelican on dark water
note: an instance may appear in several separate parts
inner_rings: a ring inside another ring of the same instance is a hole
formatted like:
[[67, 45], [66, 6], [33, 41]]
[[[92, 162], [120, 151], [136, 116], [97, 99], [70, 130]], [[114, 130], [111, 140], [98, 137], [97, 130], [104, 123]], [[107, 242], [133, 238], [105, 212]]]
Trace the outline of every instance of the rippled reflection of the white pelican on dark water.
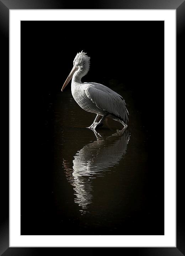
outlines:
[[105, 171], [119, 164], [126, 152], [128, 141], [128, 132], [123, 129], [105, 139], [85, 145], [74, 156], [73, 169], [63, 161], [67, 179], [74, 187], [74, 201], [82, 208], [82, 213], [86, 212], [85, 209], [92, 202], [92, 179], [104, 176]]

